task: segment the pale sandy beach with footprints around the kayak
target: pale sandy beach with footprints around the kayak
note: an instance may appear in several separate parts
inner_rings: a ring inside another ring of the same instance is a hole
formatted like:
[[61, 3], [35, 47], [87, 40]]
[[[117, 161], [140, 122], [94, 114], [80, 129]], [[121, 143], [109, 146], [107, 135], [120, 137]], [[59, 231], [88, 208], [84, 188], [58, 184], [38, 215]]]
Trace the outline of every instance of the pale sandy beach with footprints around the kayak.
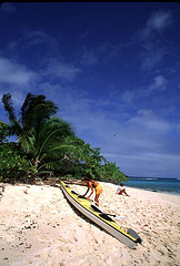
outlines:
[[[58, 187], [6, 185], [0, 201], [1, 266], [179, 266], [180, 196], [101, 183], [100, 208], [133, 228], [130, 249], [72, 208]], [[73, 185], [77, 192], [86, 187]], [[93, 200], [93, 195], [91, 196]]]

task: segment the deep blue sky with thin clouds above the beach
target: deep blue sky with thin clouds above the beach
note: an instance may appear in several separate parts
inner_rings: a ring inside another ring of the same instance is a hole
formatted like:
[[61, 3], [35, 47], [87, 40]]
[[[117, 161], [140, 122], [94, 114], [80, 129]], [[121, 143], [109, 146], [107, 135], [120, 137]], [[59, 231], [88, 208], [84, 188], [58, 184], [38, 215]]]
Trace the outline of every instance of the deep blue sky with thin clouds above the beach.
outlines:
[[0, 99], [44, 94], [127, 175], [180, 177], [179, 25], [176, 2], [2, 3]]

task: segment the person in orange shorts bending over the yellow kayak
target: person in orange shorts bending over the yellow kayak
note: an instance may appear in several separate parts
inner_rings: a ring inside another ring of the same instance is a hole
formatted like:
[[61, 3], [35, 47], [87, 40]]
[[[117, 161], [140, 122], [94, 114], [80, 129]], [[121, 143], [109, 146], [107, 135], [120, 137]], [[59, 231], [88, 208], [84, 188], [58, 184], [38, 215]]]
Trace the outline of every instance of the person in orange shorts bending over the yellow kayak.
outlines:
[[93, 188], [94, 188], [96, 190], [94, 202], [96, 202], [96, 205], [99, 207], [99, 196], [102, 193], [102, 186], [97, 181], [90, 180], [88, 176], [83, 177], [82, 181], [88, 186], [88, 190], [83, 196], [86, 196], [89, 190], [91, 190], [90, 195], [87, 197], [87, 200], [89, 201], [90, 196], [93, 194]]

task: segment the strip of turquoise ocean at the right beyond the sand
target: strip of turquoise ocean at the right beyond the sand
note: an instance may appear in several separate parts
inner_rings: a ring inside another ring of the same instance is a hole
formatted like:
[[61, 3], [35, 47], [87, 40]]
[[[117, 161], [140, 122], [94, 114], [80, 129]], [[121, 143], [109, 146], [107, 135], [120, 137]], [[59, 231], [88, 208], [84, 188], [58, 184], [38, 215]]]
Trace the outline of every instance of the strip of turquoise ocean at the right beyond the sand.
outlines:
[[124, 185], [127, 187], [180, 195], [180, 178], [129, 177]]

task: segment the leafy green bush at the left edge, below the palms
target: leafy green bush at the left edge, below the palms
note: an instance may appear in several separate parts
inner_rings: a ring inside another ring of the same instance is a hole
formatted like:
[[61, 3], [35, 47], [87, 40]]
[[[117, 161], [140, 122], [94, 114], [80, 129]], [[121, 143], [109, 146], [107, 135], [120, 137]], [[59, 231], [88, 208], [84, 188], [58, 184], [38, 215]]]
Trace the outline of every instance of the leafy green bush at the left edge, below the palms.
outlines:
[[18, 151], [16, 143], [0, 144], [0, 177], [2, 182], [24, 181], [34, 173], [26, 156]]

